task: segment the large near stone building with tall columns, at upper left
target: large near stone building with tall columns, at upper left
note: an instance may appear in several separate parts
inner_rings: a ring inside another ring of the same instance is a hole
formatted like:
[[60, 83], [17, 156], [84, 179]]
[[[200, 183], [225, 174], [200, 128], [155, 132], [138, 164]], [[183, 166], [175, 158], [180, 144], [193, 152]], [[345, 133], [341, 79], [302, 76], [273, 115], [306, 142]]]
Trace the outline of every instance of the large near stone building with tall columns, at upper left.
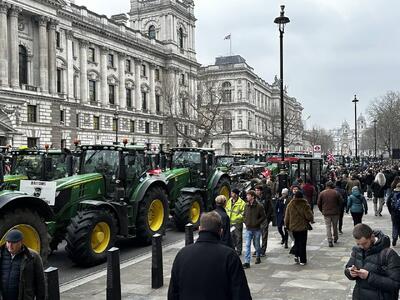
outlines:
[[164, 85], [196, 93], [194, 3], [130, 2], [108, 18], [74, 1], [0, 0], [0, 145], [174, 142]]

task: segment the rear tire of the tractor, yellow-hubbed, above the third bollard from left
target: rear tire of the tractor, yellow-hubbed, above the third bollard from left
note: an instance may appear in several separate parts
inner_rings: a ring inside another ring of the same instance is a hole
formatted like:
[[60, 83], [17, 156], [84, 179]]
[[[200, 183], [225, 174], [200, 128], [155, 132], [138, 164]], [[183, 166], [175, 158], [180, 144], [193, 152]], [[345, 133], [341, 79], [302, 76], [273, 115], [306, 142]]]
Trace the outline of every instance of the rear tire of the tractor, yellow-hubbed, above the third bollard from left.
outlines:
[[136, 237], [148, 245], [154, 234], [163, 234], [168, 221], [168, 196], [164, 189], [153, 187], [139, 202], [136, 219]]

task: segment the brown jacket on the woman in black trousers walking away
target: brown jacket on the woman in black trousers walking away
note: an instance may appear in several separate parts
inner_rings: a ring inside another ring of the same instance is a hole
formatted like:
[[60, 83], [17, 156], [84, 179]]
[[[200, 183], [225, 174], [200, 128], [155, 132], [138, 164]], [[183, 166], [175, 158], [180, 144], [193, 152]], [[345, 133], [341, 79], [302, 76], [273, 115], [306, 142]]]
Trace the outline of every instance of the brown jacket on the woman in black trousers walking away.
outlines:
[[285, 227], [290, 231], [305, 231], [308, 223], [314, 222], [314, 215], [306, 199], [293, 198], [285, 211]]

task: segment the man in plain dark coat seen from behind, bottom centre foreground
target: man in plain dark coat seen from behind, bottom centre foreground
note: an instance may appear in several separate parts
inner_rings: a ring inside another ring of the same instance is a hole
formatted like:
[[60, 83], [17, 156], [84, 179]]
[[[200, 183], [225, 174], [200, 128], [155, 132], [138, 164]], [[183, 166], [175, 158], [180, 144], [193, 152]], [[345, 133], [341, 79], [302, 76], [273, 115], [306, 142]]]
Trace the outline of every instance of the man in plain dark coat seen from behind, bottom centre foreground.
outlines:
[[218, 213], [202, 214], [196, 243], [175, 257], [168, 300], [252, 299], [239, 256], [220, 242], [221, 226]]

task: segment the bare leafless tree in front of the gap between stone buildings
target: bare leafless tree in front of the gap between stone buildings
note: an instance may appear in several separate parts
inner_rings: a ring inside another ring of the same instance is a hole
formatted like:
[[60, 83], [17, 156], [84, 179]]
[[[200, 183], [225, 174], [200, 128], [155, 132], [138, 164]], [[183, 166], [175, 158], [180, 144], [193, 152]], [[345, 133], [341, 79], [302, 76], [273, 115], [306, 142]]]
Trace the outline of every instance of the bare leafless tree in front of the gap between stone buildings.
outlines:
[[202, 78], [197, 93], [190, 88], [195, 89], [190, 85], [185, 87], [182, 79], [176, 84], [165, 78], [164, 100], [169, 129], [175, 134], [175, 143], [181, 138], [202, 147], [227, 126], [221, 114], [224, 90], [211, 75]]

